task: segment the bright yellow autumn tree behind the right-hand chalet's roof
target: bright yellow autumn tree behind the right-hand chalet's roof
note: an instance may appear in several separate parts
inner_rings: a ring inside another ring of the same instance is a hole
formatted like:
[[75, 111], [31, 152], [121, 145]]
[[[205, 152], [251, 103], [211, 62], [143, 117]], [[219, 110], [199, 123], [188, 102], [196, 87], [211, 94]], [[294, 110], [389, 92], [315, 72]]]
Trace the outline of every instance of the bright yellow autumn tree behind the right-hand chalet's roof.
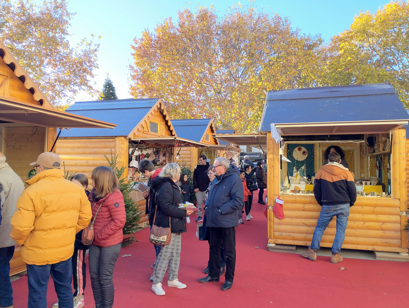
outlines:
[[389, 82], [409, 108], [409, 3], [360, 12], [328, 46], [327, 85]]

